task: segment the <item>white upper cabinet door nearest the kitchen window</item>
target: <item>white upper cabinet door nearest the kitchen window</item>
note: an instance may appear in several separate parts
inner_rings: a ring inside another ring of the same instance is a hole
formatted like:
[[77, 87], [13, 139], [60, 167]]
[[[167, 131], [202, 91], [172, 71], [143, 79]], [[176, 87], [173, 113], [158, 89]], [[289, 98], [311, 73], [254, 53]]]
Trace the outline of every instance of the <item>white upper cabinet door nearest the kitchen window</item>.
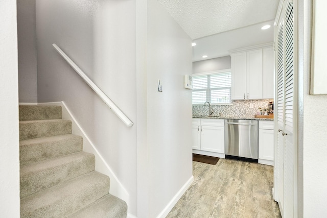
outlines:
[[245, 99], [246, 53], [231, 54], [231, 99]]

